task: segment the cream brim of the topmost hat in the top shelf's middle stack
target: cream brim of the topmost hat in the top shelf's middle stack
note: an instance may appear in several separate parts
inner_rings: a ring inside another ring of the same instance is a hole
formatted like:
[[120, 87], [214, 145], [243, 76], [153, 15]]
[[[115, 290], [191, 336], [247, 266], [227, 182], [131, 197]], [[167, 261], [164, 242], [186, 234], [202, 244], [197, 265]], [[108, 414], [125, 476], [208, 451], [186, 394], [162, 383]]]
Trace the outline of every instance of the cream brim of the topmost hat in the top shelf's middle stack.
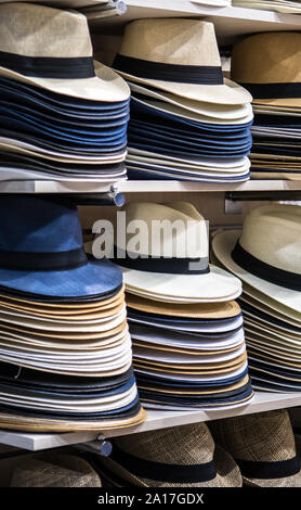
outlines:
[[193, 101], [204, 101], [215, 104], [246, 104], [252, 101], [251, 94], [239, 85], [224, 78], [224, 85], [194, 85], [146, 79], [116, 69], [122, 78], [138, 84], [145, 84], [166, 92], [171, 92]]

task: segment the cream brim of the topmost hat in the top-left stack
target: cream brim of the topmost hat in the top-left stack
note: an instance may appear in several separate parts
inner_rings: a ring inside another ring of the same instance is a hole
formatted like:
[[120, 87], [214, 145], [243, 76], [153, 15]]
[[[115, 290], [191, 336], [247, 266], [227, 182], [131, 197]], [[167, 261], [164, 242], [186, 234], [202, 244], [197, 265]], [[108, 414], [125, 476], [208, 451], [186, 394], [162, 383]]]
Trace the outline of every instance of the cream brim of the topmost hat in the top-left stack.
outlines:
[[95, 77], [81, 79], [36, 78], [0, 66], [0, 76], [41, 87], [54, 93], [88, 101], [119, 102], [130, 98], [130, 88], [113, 69], [94, 61]]

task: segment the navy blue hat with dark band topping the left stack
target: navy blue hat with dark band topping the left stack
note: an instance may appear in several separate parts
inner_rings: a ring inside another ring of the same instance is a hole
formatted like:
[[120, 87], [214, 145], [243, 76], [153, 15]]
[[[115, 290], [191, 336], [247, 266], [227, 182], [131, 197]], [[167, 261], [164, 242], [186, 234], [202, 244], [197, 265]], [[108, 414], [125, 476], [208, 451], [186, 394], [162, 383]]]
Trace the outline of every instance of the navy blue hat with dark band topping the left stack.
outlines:
[[50, 297], [106, 296], [121, 270], [88, 260], [75, 205], [36, 196], [1, 196], [0, 285]]

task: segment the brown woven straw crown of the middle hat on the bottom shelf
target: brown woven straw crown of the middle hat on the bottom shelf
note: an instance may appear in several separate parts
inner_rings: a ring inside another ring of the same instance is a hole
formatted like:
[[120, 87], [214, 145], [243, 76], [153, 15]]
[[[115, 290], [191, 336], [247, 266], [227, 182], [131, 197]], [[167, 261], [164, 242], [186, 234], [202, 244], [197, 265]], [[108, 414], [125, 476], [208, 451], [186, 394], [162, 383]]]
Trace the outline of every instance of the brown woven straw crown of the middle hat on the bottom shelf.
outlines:
[[172, 426], [115, 439], [126, 452], [143, 460], [170, 464], [204, 464], [211, 462], [214, 442], [205, 423]]

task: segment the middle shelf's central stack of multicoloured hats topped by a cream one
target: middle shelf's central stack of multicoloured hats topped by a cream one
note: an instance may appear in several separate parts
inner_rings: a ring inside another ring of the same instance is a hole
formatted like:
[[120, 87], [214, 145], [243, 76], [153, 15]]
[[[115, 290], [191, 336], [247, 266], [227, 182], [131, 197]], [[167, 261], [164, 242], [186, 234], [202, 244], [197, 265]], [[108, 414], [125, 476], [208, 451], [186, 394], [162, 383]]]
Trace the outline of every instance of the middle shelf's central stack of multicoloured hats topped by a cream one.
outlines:
[[[233, 301], [241, 284], [209, 266], [202, 216], [183, 202], [133, 203], [123, 211], [127, 232], [135, 220], [145, 229], [145, 243], [130, 251], [138, 238], [129, 234], [128, 252], [116, 260], [126, 283], [141, 400], [169, 410], [245, 405], [253, 392], [241, 313]], [[160, 221], [171, 226], [163, 239], [155, 232]]]

